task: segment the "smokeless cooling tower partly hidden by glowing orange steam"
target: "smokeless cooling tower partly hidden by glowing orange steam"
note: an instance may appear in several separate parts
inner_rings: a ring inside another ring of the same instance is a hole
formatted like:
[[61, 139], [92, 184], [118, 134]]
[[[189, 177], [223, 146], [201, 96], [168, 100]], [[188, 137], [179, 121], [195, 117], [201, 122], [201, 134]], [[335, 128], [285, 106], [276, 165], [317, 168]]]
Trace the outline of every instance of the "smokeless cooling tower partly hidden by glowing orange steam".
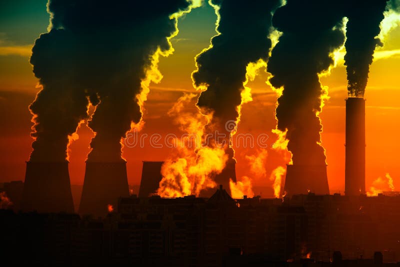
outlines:
[[147, 197], [154, 193], [161, 181], [161, 166], [164, 161], [143, 161], [139, 197]]

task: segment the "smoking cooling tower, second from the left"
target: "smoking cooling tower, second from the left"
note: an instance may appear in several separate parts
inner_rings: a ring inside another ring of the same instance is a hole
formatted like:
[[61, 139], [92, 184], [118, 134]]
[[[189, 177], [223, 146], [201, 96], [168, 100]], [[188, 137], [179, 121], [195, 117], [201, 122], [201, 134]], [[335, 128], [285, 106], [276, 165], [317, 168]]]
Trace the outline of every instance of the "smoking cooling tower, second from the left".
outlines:
[[86, 161], [79, 213], [105, 216], [119, 197], [129, 196], [126, 162]]

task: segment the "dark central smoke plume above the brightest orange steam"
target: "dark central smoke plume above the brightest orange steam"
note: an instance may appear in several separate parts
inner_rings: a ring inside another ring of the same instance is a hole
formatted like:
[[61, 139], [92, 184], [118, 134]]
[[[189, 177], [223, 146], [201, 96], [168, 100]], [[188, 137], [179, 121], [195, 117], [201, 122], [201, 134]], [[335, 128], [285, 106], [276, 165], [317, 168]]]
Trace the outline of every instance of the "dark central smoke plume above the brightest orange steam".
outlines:
[[226, 131], [225, 122], [238, 116], [247, 64], [268, 59], [271, 13], [280, 0], [212, 0], [211, 3], [219, 6], [220, 34], [211, 39], [212, 48], [196, 57], [198, 70], [192, 78], [196, 86], [208, 85], [197, 102], [203, 111], [213, 112], [206, 131], [224, 133], [228, 143], [230, 131]]

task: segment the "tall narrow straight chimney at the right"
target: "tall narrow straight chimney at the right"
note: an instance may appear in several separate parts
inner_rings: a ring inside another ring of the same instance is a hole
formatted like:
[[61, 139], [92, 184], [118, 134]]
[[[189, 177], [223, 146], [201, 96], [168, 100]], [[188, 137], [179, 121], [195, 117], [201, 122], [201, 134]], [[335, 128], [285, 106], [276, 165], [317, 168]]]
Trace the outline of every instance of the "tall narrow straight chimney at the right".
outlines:
[[346, 99], [344, 193], [365, 194], [365, 99]]

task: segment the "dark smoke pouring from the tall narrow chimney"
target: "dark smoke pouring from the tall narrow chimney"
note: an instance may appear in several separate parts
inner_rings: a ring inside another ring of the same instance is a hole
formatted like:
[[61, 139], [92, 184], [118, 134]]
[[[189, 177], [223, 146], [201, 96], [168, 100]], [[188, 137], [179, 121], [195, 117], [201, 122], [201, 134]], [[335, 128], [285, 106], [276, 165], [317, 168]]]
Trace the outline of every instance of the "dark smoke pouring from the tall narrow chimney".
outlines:
[[[346, 54], [344, 61], [347, 70], [347, 89], [349, 96], [363, 97], [368, 80], [369, 65], [373, 51], [382, 46], [377, 35], [379, 24], [384, 18], [387, 0], [351, 0], [346, 3]], [[394, 1], [390, 5], [395, 5]], [[392, 6], [393, 7], [393, 6]]]

